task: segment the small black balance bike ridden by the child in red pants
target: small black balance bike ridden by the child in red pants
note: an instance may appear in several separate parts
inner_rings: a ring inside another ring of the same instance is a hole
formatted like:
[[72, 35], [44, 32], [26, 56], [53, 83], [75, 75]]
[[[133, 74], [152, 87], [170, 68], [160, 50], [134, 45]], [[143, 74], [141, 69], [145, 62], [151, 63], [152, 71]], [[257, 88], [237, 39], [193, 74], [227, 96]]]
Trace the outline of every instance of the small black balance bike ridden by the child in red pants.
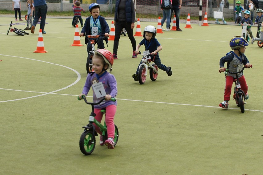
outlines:
[[[250, 66], [252, 67], [252, 65]], [[234, 96], [233, 99], [236, 100], [236, 105], [238, 107], [240, 107], [240, 110], [242, 113], [245, 112], [245, 108], [244, 108], [244, 104], [246, 103], [246, 99], [245, 99], [245, 93], [244, 91], [242, 91], [241, 86], [240, 86], [240, 81], [238, 80], [238, 74], [243, 72], [244, 68], [248, 68], [246, 66], [244, 66], [241, 70], [239, 69], [238, 72], [231, 72], [228, 69], [225, 69], [224, 74], [228, 75], [228, 73], [230, 74], [236, 74], [236, 79], [234, 79], [235, 82], [235, 87], [234, 87]], [[244, 100], [243, 100], [244, 99]]]

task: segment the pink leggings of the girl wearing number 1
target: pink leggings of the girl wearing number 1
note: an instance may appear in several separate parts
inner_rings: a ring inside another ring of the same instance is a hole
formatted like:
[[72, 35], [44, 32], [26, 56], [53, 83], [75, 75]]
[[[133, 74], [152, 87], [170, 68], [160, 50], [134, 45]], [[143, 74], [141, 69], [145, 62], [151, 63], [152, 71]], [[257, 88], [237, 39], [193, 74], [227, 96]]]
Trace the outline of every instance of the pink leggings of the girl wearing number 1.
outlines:
[[[116, 105], [109, 105], [106, 107], [106, 116], [105, 116], [105, 121], [106, 121], [106, 126], [107, 126], [107, 133], [108, 133], [108, 138], [114, 138], [115, 136], [115, 126], [114, 126], [114, 116], [116, 113], [117, 106]], [[96, 114], [95, 119], [101, 122], [102, 120], [102, 113], [100, 112], [101, 109], [94, 109], [94, 113]], [[102, 132], [100, 131], [100, 128], [94, 123], [95, 130], [98, 132], [98, 134], [102, 135]]]

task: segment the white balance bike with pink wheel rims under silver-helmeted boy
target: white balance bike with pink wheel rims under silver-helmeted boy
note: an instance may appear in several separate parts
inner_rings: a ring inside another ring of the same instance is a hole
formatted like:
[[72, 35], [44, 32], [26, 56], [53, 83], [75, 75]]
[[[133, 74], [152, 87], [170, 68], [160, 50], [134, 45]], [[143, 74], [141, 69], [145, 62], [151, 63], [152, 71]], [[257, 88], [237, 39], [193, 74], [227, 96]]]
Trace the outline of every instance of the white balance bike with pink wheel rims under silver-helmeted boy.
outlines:
[[[143, 84], [146, 81], [147, 76], [147, 70], [150, 71], [150, 79], [152, 81], [155, 81], [158, 76], [158, 67], [155, 63], [151, 64], [151, 54], [144, 55], [141, 54], [139, 51], [139, 54], [143, 56], [142, 63], [139, 66], [139, 72], [138, 72], [138, 81], [140, 84]], [[157, 53], [155, 54], [157, 55]]]

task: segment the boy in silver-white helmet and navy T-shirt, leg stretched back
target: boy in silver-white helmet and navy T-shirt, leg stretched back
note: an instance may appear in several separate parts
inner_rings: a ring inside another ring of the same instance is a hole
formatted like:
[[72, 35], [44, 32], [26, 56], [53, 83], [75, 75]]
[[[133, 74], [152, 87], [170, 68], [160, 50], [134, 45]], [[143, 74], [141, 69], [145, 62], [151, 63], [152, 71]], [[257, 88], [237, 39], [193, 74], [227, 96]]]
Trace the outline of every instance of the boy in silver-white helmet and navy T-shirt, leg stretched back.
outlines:
[[[143, 37], [144, 39], [140, 42], [140, 44], [137, 45], [135, 53], [139, 53], [139, 48], [141, 45], [144, 44], [145, 46], [145, 51], [148, 51], [148, 54], [151, 55], [151, 60], [157, 65], [157, 67], [163, 71], [166, 71], [168, 76], [172, 75], [172, 68], [171, 67], [166, 67], [164, 64], [161, 63], [161, 59], [159, 57], [159, 51], [162, 50], [161, 44], [158, 42], [158, 40], [155, 38], [156, 36], [156, 28], [154, 26], [146, 26], [143, 31]], [[157, 55], [155, 55], [157, 53]], [[140, 64], [142, 61], [140, 62]], [[132, 75], [132, 78], [134, 81], [138, 81], [138, 72], [139, 72], [139, 67], [140, 64], [136, 70], [136, 73]]]

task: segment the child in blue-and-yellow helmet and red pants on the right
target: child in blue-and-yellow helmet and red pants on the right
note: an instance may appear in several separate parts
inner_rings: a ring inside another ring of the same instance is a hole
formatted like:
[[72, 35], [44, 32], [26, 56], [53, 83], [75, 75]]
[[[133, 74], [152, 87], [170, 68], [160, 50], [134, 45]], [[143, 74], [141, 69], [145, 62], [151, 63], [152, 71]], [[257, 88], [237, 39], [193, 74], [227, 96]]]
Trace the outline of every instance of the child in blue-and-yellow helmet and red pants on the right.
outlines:
[[[221, 73], [225, 71], [224, 64], [226, 62], [227, 62], [227, 69], [231, 72], [237, 72], [238, 68], [243, 67], [243, 65], [249, 68], [250, 63], [247, 57], [244, 55], [246, 46], [248, 46], [247, 40], [242, 36], [235, 36], [230, 40], [229, 46], [234, 51], [230, 51], [229, 53], [226, 54], [226, 56], [220, 59], [219, 72]], [[228, 75], [226, 75], [224, 101], [219, 104], [221, 108], [225, 108], [225, 109], [228, 108], [228, 101], [230, 100], [232, 84], [235, 78], [236, 78], [236, 74], [228, 73]], [[246, 79], [243, 75], [243, 72], [238, 74], [238, 79], [240, 81], [241, 89], [245, 93], [245, 99], [248, 100], [248, 85], [246, 83]]]

